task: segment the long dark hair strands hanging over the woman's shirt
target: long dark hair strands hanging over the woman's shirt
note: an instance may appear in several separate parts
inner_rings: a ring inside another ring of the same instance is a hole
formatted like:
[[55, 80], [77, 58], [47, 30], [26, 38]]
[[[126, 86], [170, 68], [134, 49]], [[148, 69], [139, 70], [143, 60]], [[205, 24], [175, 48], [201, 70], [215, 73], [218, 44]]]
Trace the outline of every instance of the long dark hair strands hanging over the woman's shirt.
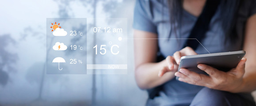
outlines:
[[[174, 31], [176, 37], [178, 37], [177, 33], [180, 33], [180, 30], [177, 29], [180, 29], [182, 25], [183, 1], [184, 0], [168, 0], [171, 31]], [[241, 0], [221, 0], [221, 28], [224, 31], [226, 40], [234, 41], [237, 39], [237, 32], [235, 28], [240, 1]], [[175, 26], [175, 24], [177, 24], [177, 26]], [[169, 38], [170, 37], [171, 34], [169, 35]]]

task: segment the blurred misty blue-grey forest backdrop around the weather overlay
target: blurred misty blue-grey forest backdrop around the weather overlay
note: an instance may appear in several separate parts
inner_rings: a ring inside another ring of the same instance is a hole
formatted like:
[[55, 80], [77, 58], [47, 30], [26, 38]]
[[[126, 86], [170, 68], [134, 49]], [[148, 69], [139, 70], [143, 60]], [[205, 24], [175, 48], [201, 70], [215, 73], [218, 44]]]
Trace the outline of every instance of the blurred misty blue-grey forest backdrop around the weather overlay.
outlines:
[[[47, 18], [127, 18], [135, 0], [5, 0], [0, 4], [0, 106], [143, 106], [133, 58], [123, 75], [45, 73]], [[128, 40], [128, 57], [133, 57]]]

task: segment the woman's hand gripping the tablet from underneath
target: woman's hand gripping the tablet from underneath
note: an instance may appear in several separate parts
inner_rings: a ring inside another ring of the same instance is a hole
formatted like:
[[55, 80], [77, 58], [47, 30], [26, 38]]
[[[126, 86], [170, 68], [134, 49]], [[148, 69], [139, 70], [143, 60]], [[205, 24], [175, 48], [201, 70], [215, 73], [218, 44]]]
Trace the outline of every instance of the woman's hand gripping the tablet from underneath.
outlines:
[[175, 72], [175, 76], [179, 77], [179, 81], [185, 83], [236, 93], [239, 92], [243, 84], [245, 61], [246, 58], [243, 57], [237, 64], [237, 67], [231, 69], [229, 72], [217, 70], [206, 64], [198, 64], [198, 68], [205, 71], [209, 76], [198, 74], [185, 68], [181, 68], [179, 72]]

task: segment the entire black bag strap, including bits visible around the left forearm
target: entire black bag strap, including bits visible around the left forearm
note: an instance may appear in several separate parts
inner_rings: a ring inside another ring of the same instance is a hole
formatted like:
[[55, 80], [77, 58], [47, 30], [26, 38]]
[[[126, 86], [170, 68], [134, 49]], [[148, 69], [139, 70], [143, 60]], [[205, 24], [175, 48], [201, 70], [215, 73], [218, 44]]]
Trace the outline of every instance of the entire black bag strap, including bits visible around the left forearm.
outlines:
[[[189, 38], [197, 38], [200, 42], [206, 31], [208, 30], [210, 20], [212, 19], [213, 15], [215, 14], [217, 7], [219, 5], [221, 0], [207, 0], [206, 5], [204, 6], [204, 9], [200, 16], [198, 17], [193, 29], [190, 32]], [[184, 47], [190, 46], [194, 50], [197, 49], [197, 46], [199, 45], [199, 42], [196, 40], [187, 40]], [[183, 48], [184, 48], [183, 47]], [[159, 55], [157, 57], [157, 61], [163, 61], [165, 57], [159, 52]], [[147, 93], [150, 99], [155, 98], [155, 96], [159, 96], [159, 91], [162, 91], [163, 85], [160, 85], [158, 87], [148, 89]]]

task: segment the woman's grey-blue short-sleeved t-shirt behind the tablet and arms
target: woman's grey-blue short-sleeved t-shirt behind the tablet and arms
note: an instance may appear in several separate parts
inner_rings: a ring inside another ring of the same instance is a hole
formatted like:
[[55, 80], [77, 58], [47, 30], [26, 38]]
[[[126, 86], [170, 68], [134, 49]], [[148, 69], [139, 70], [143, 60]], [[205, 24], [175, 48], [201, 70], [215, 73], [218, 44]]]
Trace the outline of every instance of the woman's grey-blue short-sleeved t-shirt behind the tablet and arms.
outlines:
[[[244, 38], [244, 25], [248, 17], [256, 13], [256, 0], [247, 0], [238, 11], [237, 17], [237, 34], [238, 38], [235, 43], [229, 41], [225, 42], [224, 31], [221, 29], [220, 8], [217, 9], [213, 16], [209, 30], [206, 32], [205, 38], [201, 41], [202, 45], [210, 53], [229, 52], [241, 50]], [[194, 26], [197, 17], [191, 15], [187, 11], [183, 11], [182, 27], [178, 29], [180, 33], [175, 36], [171, 32], [171, 24], [169, 17], [169, 9], [167, 0], [137, 0], [134, 10], [133, 28], [136, 30], [143, 30], [152, 32], [158, 35], [158, 46], [160, 53], [167, 57], [173, 55], [176, 51], [182, 49], [186, 39], [190, 34], [190, 30]], [[167, 40], [171, 34], [171, 39]], [[179, 39], [175, 39], [179, 38]], [[195, 39], [190, 39], [195, 40]], [[208, 53], [202, 45], [196, 49], [198, 54]], [[160, 96], [149, 100], [157, 106], [170, 105], [189, 105], [194, 96], [200, 91], [202, 87], [183, 83], [172, 79], [163, 85], [163, 91], [160, 91]]]

